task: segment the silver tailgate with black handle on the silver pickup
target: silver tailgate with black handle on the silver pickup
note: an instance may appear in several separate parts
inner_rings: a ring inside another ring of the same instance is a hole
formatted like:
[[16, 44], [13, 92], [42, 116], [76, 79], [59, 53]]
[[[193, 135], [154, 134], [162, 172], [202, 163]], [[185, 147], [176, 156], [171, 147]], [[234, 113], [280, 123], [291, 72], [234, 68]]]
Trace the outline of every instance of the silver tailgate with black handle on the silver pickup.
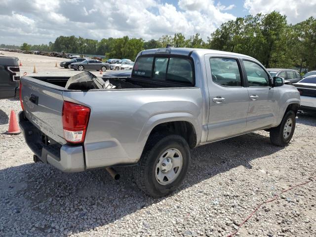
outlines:
[[22, 77], [21, 83], [26, 118], [45, 135], [65, 144], [62, 125], [62, 93], [65, 88], [30, 77]]

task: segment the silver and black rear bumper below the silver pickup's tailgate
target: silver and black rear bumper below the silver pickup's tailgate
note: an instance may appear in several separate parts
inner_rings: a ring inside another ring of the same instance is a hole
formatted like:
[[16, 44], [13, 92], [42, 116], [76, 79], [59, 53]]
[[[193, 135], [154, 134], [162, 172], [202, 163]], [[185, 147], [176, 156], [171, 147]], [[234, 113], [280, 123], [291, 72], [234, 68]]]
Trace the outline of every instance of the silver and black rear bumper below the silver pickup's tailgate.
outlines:
[[[80, 172], [85, 170], [83, 148], [61, 145], [43, 134], [33, 123], [19, 113], [19, 125], [30, 149], [44, 163], [49, 163], [63, 172]], [[45, 140], [50, 143], [45, 144]]]

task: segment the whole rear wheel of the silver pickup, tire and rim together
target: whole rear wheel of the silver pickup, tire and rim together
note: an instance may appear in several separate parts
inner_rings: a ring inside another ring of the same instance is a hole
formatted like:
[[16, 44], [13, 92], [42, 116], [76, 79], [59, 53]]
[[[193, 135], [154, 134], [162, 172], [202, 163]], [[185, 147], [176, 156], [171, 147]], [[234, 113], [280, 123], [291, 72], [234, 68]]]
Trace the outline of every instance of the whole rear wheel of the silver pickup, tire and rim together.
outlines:
[[162, 197], [178, 188], [190, 163], [190, 148], [179, 135], [151, 135], [137, 166], [134, 177], [147, 195]]

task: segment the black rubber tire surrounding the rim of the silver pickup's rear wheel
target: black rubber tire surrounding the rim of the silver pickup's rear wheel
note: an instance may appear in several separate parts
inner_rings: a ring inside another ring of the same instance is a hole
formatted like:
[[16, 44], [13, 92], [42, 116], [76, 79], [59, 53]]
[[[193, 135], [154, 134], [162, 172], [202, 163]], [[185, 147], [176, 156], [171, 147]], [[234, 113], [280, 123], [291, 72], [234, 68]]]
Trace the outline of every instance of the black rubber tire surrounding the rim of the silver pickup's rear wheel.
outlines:
[[[182, 155], [182, 168], [175, 180], [161, 185], [155, 172], [159, 157], [168, 149], [177, 149]], [[154, 134], [148, 138], [143, 154], [134, 167], [134, 177], [138, 187], [152, 197], [163, 197], [178, 188], [184, 180], [190, 164], [190, 148], [186, 140], [179, 135]]]

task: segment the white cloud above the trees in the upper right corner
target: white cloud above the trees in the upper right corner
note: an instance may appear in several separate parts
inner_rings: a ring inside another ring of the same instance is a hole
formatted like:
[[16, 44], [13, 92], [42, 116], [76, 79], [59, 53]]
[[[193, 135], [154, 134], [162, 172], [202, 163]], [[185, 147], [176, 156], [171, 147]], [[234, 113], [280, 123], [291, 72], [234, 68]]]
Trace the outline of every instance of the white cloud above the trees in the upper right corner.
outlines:
[[278, 11], [294, 24], [316, 17], [316, 0], [245, 0], [244, 7], [253, 15]]

